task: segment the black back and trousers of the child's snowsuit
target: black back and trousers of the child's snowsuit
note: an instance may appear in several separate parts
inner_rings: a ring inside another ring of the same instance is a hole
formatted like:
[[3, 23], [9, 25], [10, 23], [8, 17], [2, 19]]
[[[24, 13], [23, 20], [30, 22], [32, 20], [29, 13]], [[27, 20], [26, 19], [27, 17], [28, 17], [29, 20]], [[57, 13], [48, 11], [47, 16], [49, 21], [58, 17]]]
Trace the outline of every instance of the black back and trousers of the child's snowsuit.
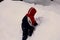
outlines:
[[33, 33], [33, 30], [34, 30], [34, 27], [30, 26], [28, 21], [27, 21], [27, 16], [25, 16], [23, 19], [22, 19], [22, 30], [23, 30], [23, 37], [22, 37], [22, 40], [26, 40], [28, 35], [29, 36], [32, 36], [32, 33]]

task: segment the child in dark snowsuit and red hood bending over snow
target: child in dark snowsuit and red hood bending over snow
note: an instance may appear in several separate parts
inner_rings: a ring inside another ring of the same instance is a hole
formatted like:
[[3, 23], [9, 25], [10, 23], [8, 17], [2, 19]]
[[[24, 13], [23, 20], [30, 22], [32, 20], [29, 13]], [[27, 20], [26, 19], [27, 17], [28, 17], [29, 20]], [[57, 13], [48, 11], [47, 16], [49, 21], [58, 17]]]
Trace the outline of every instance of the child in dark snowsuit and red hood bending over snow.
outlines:
[[32, 36], [37, 22], [35, 21], [34, 15], [36, 14], [36, 9], [31, 7], [28, 13], [22, 19], [22, 40], [27, 40], [28, 36]]

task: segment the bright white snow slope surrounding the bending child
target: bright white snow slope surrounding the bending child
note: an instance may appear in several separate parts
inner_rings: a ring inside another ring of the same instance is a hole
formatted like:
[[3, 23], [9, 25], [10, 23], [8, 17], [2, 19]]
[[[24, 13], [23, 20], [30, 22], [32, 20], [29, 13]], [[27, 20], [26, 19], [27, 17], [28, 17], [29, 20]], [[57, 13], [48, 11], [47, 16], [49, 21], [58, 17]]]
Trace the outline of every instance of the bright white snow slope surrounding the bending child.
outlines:
[[0, 3], [0, 40], [21, 40], [21, 21], [30, 7], [35, 7], [35, 18], [41, 17], [32, 37], [27, 40], [60, 40], [60, 4], [34, 5], [20, 1]]

